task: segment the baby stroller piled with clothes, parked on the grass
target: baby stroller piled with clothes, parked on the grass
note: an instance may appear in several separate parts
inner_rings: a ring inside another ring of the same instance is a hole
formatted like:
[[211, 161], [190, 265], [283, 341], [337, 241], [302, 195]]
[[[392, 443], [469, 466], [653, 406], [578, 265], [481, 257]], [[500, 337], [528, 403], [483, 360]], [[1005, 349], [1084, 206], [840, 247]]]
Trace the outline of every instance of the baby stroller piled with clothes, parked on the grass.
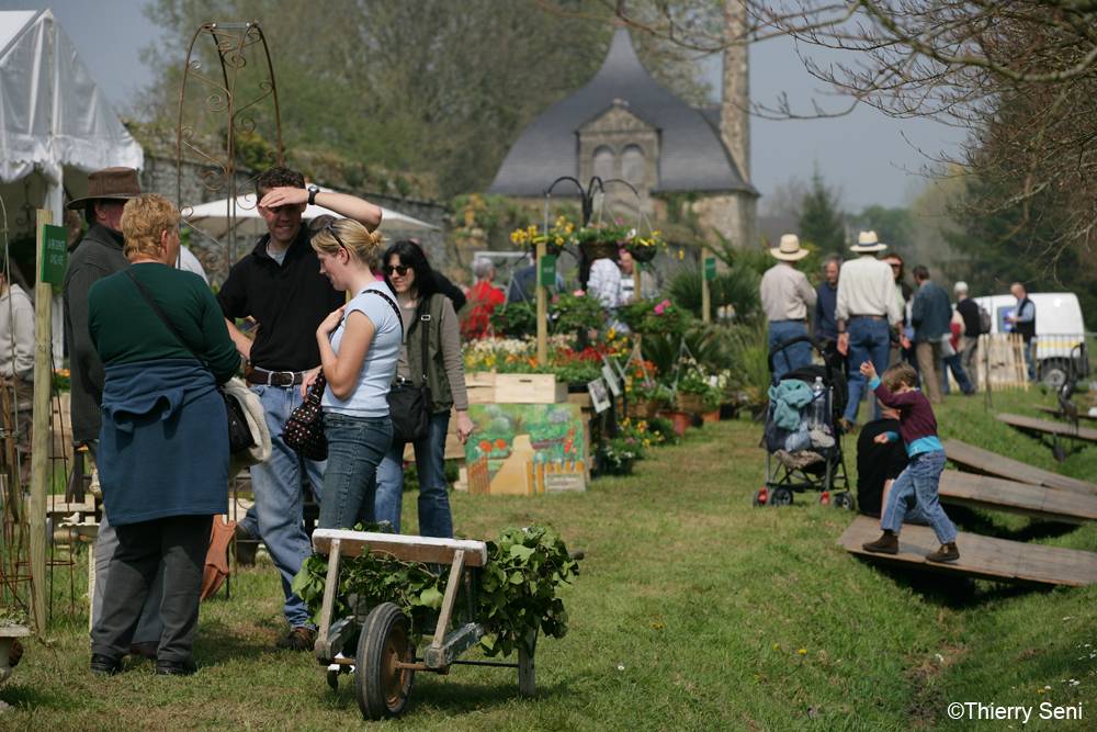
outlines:
[[[781, 403], [771, 398], [766, 412], [762, 444], [766, 448], [766, 485], [754, 497], [756, 506], [788, 506], [794, 493], [818, 491], [819, 503], [852, 510], [846, 459], [841, 449], [841, 416], [848, 396], [845, 359], [833, 349], [824, 349], [808, 336], [798, 336], [773, 347], [769, 352], [769, 371], [773, 373], [776, 358], [800, 342], [808, 342], [818, 353], [822, 364], [812, 363], [773, 379], [773, 386], [785, 385], [782, 392], [794, 392]], [[823, 388], [816, 393], [816, 381]], [[790, 382], [802, 382], [792, 384]], [[803, 386], [812, 396], [807, 403]], [[798, 398], [799, 397], [799, 398]], [[822, 406], [816, 409], [816, 404]], [[799, 405], [799, 406], [798, 406]]]

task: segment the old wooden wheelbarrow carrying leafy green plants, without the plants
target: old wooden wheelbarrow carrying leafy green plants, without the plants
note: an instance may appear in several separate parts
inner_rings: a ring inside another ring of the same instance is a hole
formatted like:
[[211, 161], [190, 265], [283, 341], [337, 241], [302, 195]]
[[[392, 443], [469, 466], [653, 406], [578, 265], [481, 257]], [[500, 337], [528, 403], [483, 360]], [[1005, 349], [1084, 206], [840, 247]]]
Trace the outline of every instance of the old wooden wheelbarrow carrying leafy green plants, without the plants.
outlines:
[[[354, 672], [354, 690], [363, 718], [398, 716], [407, 705], [416, 672], [448, 674], [453, 664], [518, 668], [519, 694], [529, 697], [535, 692], [535, 632], [518, 644], [518, 663], [459, 660], [485, 633], [484, 627], [475, 620], [475, 594], [479, 586], [475, 574], [487, 562], [487, 544], [483, 541], [317, 529], [313, 532], [313, 550], [328, 556], [320, 627], [314, 646], [316, 660], [327, 667], [327, 680], [332, 689], [338, 688], [340, 674]], [[332, 618], [339, 587], [339, 560], [360, 556], [363, 552], [405, 562], [450, 565], [434, 635], [422, 647], [421, 655], [411, 637], [407, 616], [394, 603], [355, 610], [349, 618]], [[462, 588], [464, 601], [459, 608], [457, 593]], [[355, 633], [358, 647], [350, 656], [346, 646]]]

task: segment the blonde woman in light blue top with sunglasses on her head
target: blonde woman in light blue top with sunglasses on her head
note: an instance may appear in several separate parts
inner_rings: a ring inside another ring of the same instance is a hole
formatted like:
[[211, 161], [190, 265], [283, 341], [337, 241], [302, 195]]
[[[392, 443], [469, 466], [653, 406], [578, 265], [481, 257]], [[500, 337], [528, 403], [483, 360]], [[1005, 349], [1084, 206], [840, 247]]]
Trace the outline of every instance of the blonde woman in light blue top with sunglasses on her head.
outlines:
[[[395, 295], [373, 275], [381, 235], [350, 218], [313, 235], [320, 273], [354, 296], [316, 329], [327, 388], [320, 402], [328, 464], [320, 489], [320, 528], [374, 520], [377, 465], [393, 439], [388, 388], [396, 373], [400, 322]], [[315, 375], [306, 379], [307, 392]]]

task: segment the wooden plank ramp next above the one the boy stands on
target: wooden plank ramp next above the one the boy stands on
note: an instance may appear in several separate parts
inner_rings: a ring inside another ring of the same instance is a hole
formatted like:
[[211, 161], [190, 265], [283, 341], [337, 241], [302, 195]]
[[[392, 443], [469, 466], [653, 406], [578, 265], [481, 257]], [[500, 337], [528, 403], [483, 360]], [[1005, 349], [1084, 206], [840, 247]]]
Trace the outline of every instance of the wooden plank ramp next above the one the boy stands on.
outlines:
[[941, 500], [1032, 518], [1085, 523], [1097, 520], [1097, 496], [1018, 483], [1004, 477], [947, 470], [941, 474]]

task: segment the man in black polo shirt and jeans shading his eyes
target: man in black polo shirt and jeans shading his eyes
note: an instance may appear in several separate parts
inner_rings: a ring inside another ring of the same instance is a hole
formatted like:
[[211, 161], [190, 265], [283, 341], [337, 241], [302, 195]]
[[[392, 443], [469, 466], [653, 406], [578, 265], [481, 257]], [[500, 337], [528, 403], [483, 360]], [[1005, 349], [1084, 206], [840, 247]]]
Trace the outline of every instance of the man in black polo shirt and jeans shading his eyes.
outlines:
[[[346, 297], [320, 274], [320, 263], [302, 225], [306, 203], [318, 203], [361, 222], [370, 229], [381, 223], [381, 209], [346, 193], [305, 188], [305, 178], [286, 168], [271, 168], [256, 181], [259, 212], [268, 234], [237, 262], [217, 295], [228, 334], [248, 361], [246, 378], [267, 410], [271, 458], [251, 468], [259, 536], [282, 575], [283, 612], [290, 633], [280, 647], [312, 650], [316, 631], [308, 610], [290, 589], [302, 562], [312, 553], [302, 528], [302, 476], [319, 495], [324, 463], [302, 459], [282, 440], [285, 420], [301, 404], [306, 371], [320, 363], [316, 328]], [[237, 318], [259, 324], [255, 342], [236, 327]]]

